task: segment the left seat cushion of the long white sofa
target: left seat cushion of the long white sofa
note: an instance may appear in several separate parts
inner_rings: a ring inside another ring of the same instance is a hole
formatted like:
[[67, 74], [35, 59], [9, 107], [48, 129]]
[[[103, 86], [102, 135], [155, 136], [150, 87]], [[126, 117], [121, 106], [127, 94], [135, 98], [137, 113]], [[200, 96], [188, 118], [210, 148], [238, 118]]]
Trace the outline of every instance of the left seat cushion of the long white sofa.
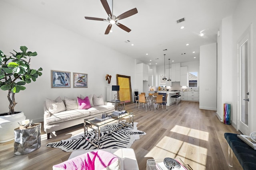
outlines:
[[62, 111], [59, 113], [55, 113], [54, 115], [51, 115], [50, 117], [46, 118], [47, 125], [50, 124], [56, 124], [64, 121], [69, 121], [72, 119], [77, 119], [80, 117], [85, 117], [90, 115], [90, 111], [87, 109], [74, 109], [74, 110], [68, 110], [68, 111]]

